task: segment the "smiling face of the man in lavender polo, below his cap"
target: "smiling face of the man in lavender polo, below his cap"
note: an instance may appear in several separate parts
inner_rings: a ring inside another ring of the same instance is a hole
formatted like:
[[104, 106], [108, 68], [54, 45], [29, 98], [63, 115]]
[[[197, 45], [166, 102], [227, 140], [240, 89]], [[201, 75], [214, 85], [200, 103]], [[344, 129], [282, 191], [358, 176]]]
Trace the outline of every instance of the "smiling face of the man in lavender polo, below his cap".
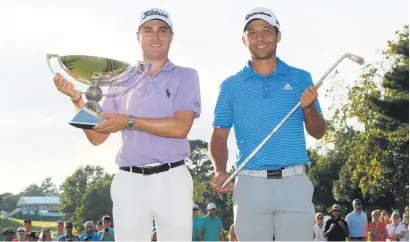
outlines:
[[168, 57], [173, 33], [171, 28], [161, 20], [151, 20], [144, 23], [138, 33], [144, 57], [149, 60], [159, 60]]

